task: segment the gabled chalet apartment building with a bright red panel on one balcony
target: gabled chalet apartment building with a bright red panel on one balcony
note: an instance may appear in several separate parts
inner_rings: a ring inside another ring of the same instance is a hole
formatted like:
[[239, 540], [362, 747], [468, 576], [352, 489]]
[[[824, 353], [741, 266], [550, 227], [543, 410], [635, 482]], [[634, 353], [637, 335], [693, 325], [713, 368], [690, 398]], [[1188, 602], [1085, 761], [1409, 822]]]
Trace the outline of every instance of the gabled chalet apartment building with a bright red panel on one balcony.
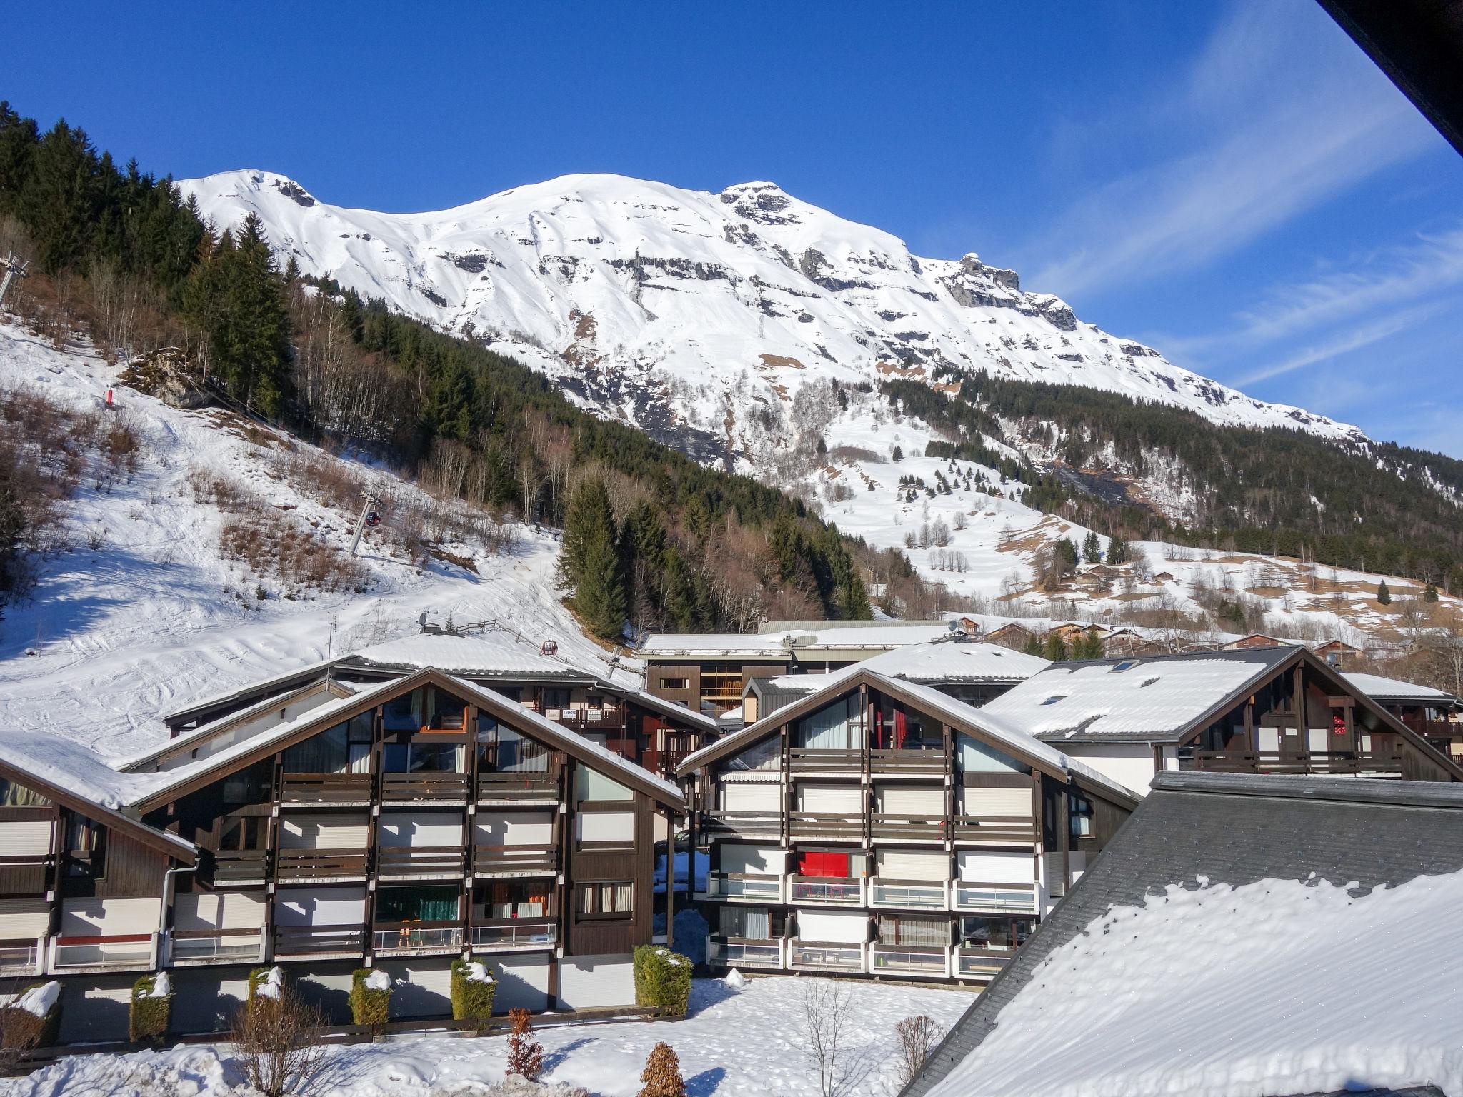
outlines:
[[[929, 646], [955, 661], [966, 645]], [[875, 668], [909, 654], [808, 676], [824, 685], [682, 762], [710, 841], [712, 965], [983, 983], [1138, 803]]]

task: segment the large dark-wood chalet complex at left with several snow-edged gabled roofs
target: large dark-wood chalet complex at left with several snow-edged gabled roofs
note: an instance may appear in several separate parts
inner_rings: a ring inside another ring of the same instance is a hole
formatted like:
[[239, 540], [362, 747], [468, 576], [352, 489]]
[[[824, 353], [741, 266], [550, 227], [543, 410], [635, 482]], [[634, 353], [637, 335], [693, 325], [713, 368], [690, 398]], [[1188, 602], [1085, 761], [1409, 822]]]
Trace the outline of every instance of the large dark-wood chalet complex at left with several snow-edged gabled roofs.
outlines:
[[672, 913], [657, 933], [655, 841], [686, 815], [654, 771], [699, 714], [423, 635], [170, 723], [121, 772], [0, 737], [0, 974], [60, 979], [63, 1041], [121, 1038], [155, 970], [177, 1031], [217, 1031], [263, 962], [336, 1019], [361, 965], [399, 980], [394, 1015], [448, 1017], [467, 955], [497, 1009], [633, 1005], [631, 952]]

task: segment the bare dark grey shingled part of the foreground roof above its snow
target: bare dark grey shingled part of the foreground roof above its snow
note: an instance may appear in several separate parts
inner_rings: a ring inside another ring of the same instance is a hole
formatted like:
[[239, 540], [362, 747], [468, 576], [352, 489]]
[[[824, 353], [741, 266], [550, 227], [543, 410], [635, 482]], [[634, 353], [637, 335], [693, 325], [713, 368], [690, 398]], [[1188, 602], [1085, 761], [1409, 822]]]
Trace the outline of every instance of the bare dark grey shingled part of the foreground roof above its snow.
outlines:
[[1116, 838], [901, 1097], [929, 1093], [986, 1038], [1040, 962], [1110, 905], [1141, 905], [1144, 895], [1195, 876], [1238, 886], [1315, 873], [1374, 888], [1460, 869], [1463, 784], [1160, 772]]

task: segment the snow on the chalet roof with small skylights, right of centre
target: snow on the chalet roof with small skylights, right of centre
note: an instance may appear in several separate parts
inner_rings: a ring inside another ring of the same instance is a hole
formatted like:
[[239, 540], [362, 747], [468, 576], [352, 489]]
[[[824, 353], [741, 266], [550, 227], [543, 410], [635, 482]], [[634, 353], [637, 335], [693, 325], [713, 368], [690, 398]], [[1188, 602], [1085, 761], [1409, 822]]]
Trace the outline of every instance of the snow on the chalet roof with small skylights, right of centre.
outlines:
[[1162, 739], [1188, 727], [1271, 666], [1245, 658], [1056, 663], [980, 711], [1033, 736]]

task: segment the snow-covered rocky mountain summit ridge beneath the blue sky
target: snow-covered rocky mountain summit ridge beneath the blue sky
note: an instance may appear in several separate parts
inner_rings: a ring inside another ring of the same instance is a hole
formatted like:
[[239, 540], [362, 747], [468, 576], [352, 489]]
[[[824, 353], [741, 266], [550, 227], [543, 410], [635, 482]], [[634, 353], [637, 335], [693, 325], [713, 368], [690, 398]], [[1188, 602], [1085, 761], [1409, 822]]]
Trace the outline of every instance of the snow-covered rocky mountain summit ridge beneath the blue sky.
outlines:
[[1362, 437], [1083, 323], [1014, 271], [917, 257], [772, 183], [711, 195], [565, 176], [429, 214], [331, 206], [265, 171], [180, 186], [219, 228], [257, 214], [304, 272], [489, 339], [588, 407], [739, 471], [759, 472], [803, 385], [932, 380], [936, 366]]

